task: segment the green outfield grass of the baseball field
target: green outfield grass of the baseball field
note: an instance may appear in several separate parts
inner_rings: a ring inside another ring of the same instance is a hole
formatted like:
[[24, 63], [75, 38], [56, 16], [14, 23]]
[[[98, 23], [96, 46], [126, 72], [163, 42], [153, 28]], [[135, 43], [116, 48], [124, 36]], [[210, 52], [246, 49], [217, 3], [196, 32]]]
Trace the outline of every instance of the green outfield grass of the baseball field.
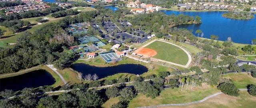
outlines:
[[174, 62], [176, 64], [186, 65], [188, 62], [188, 55], [177, 46], [165, 42], [155, 41], [145, 48], [153, 49], [157, 52], [153, 58]]

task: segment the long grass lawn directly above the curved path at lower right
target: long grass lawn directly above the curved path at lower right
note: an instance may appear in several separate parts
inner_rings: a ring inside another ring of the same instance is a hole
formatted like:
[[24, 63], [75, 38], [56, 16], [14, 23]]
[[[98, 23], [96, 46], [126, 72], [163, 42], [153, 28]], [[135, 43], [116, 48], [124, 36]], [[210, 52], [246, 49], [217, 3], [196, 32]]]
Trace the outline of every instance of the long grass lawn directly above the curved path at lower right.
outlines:
[[[188, 87], [190, 88], [191, 85]], [[181, 87], [177, 89], [165, 89], [160, 93], [160, 96], [152, 99], [147, 98], [146, 95], [138, 94], [130, 101], [129, 108], [139, 106], [154, 106], [159, 104], [178, 104], [202, 100], [206, 96], [220, 92], [216, 87], [210, 87], [203, 84], [202, 87], [194, 87], [192, 90], [188, 89], [181, 92]]]

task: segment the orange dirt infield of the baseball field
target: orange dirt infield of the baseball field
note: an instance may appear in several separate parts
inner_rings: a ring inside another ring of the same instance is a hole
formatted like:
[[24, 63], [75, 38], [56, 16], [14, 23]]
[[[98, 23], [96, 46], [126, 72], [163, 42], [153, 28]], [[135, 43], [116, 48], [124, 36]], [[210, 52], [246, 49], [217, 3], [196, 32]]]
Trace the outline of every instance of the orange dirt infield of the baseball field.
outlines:
[[142, 57], [154, 57], [156, 56], [157, 52], [155, 50], [152, 50], [150, 48], [138, 48], [137, 50], [134, 51], [134, 53], [138, 54], [138, 56]]

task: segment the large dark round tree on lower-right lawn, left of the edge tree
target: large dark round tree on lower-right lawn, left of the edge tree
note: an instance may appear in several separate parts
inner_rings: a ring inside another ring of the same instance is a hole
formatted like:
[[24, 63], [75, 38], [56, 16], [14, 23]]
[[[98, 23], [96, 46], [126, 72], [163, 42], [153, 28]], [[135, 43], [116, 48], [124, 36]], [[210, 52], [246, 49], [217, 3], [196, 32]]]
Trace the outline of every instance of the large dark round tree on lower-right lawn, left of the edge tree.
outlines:
[[226, 95], [239, 96], [239, 89], [233, 83], [220, 83], [217, 88]]

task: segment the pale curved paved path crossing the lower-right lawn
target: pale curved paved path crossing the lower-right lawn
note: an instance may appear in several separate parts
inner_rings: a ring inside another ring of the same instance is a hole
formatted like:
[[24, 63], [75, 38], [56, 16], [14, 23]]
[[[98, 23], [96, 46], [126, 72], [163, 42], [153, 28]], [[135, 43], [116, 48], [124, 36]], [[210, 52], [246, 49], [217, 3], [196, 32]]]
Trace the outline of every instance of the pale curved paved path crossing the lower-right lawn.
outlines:
[[[247, 89], [239, 89], [240, 91], [247, 91]], [[199, 101], [194, 101], [194, 102], [188, 102], [188, 103], [184, 103], [184, 104], [161, 104], [161, 105], [156, 105], [156, 106], [143, 106], [143, 107], [137, 107], [137, 108], [158, 108], [158, 107], [163, 107], [163, 106], [183, 106], [183, 105], [189, 105], [189, 104], [196, 104], [196, 103], [200, 103], [200, 102], [204, 102], [205, 100], [214, 97], [216, 95], [220, 95], [222, 94], [222, 92], [218, 92], [215, 93], [213, 95], [207, 96], [202, 100]]]

